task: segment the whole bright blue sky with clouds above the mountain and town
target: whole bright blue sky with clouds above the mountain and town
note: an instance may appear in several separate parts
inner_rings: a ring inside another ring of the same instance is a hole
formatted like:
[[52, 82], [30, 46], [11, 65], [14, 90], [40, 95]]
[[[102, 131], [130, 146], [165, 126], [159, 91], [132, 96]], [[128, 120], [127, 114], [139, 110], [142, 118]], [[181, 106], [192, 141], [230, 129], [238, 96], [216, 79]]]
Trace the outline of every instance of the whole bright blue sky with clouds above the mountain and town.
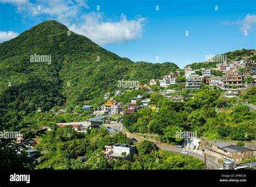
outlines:
[[256, 48], [255, 0], [0, 0], [0, 12], [0, 42], [55, 19], [119, 56], [181, 68]]

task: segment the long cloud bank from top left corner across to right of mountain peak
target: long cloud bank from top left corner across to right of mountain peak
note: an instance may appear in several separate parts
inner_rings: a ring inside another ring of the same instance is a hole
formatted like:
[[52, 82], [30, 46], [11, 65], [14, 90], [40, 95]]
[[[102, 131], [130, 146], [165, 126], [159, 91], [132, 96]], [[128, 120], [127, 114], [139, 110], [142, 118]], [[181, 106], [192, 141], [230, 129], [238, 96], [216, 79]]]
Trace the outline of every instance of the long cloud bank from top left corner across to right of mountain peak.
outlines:
[[[125, 15], [121, 15], [119, 21], [104, 21], [102, 13], [84, 12], [89, 9], [85, 0], [37, 0], [35, 3], [29, 0], [0, 0], [0, 3], [15, 5], [17, 12], [23, 16], [56, 19], [71, 31], [102, 45], [141, 38], [146, 21], [143, 17], [127, 20]], [[38, 10], [38, 6], [41, 10]]]

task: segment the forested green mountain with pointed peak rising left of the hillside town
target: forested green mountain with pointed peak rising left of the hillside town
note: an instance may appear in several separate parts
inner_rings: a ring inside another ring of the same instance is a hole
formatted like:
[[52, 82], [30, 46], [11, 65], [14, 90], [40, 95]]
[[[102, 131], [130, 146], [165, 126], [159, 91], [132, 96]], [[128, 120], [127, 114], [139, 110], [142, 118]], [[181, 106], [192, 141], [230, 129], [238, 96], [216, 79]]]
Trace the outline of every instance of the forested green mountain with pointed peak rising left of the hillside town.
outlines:
[[[51, 55], [51, 62], [31, 62], [31, 55]], [[45, 21], [0, 44], [0, 123], [22, 126], [22, 118], [40, 108], [103, 102], [118, 80], [145, 83], [178, 69], [174, 63], [132, 62], [90, 39]], [[100, 97], [99, 97], [100, 96]]]

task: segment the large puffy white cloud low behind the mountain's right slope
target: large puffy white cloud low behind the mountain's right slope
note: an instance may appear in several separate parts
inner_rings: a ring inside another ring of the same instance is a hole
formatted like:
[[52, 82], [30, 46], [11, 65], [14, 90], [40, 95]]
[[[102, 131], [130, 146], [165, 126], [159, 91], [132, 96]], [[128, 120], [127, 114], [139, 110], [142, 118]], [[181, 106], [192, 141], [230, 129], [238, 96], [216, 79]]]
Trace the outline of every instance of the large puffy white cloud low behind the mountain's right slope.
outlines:
[[146, 18], [127, 20], [121, 15], [119, 21], [103, 21], [103, 15], [91, 13], [83, 16], [82, 23], [72, 24], [69, 29], [84, 35], [97, 44], [106, 45], [114, 42], [126, 42], [142, 37]]

